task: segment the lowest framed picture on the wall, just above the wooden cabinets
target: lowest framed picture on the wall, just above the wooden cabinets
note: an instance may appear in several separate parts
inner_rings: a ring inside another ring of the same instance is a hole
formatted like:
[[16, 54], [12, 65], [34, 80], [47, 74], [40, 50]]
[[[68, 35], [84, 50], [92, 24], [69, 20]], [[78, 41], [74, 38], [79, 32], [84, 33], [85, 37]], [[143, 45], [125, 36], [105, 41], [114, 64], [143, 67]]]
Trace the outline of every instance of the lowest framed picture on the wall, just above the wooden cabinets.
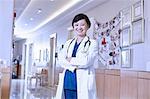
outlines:
[[131, 68], [131, 49], [123, 49], [121, 51], [121, 67]]

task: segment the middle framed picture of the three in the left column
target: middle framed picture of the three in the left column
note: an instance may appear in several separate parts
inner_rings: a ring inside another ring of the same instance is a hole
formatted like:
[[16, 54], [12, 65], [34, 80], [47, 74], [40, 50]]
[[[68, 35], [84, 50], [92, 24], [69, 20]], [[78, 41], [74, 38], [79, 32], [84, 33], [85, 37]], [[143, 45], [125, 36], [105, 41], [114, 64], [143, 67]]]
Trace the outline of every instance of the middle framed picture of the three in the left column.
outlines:
[[130, 34], [131, 34], [130, 26], [122, 29], [122, 33], [121, 33], [121, 39], [122, 39], [121, 46], [122, 47], [128, 47], [130, 45]]

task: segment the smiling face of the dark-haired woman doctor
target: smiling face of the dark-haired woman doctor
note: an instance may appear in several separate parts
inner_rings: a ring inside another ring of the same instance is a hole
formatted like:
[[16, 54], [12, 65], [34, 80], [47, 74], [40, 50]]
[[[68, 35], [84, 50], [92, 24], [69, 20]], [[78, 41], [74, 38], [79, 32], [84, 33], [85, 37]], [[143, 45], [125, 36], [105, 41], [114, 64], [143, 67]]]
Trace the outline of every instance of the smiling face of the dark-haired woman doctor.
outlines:
[[84, 37], [86, 32], [89, 29], [88, 24], [85, 19], [79, 20], [73, 24], [74, 31], [77, 33], [77, 36]]

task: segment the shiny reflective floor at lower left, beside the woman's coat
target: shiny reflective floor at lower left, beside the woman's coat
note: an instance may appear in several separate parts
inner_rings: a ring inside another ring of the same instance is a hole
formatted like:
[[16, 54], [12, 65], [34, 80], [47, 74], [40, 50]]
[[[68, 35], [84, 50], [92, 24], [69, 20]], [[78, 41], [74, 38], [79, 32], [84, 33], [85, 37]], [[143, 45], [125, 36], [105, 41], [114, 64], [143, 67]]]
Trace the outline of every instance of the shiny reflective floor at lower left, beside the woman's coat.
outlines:
[[55, 90], [48, 87], [27, 85], [24, 80], [13, 79], [10, 99], [54, 99]]

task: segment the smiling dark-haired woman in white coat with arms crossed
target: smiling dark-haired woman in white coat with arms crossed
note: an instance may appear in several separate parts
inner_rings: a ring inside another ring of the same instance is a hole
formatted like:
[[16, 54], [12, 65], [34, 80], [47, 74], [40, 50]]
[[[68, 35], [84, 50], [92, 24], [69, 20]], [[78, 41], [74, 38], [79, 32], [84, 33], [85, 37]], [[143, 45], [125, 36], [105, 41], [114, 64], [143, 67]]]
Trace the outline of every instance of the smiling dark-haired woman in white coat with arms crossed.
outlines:
[[85, 14], [72, 21], [76, 37], [68, 40], [58, 54], [58, 63], [64, 68], [56, 92], [56, 99], [96, 99], [94, 60], [98, 54], [97, 42], [86, 33], [91, 23]]

